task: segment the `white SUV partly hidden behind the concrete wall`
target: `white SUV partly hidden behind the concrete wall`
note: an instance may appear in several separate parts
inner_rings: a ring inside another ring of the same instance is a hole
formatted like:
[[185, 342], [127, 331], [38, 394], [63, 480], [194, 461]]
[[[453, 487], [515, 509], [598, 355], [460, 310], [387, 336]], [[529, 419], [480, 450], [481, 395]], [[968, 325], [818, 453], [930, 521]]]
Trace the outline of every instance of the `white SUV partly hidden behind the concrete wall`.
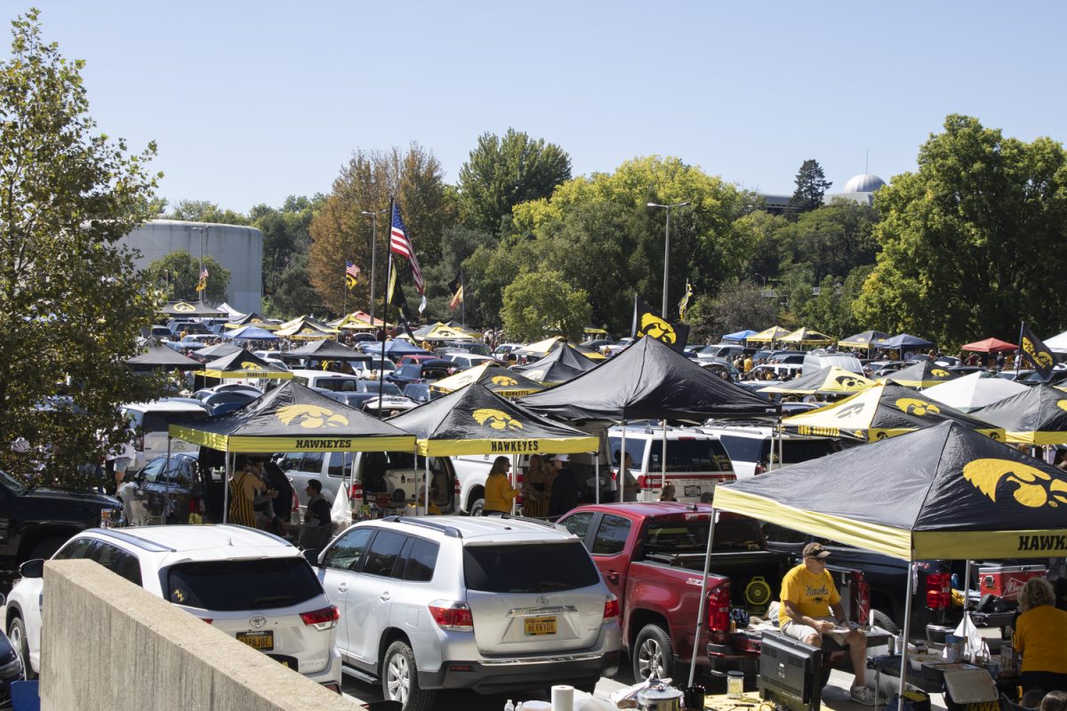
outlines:
[[[340, 692], [337, 608], [303, 554], [240, 526], [90, 529], [52, 560], [89, 559], [312, 681]], [[41, 669], [44, 561], [23, 563], [4, 611], [27, 672]]]

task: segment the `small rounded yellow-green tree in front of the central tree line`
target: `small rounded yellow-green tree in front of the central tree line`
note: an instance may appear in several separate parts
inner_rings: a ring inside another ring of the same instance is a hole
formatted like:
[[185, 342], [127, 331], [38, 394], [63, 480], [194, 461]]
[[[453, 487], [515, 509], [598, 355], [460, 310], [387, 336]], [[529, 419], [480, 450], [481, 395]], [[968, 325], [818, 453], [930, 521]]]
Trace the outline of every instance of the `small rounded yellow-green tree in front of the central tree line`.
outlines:
[[526, 272], [504, 290], [504, 330], [510, 338], [535, 341], [552, 334], [582, 340], [591, 309], [589, 295], [559, 272]]

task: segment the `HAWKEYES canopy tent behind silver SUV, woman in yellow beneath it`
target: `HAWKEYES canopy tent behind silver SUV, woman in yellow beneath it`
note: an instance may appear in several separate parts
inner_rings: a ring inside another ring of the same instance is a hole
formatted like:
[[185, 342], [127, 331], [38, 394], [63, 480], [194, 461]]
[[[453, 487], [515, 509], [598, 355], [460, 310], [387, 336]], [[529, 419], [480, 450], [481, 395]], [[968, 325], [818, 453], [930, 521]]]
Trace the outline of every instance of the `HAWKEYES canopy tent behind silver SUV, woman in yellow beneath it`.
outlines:
[[389, 418], [388, 423], [416, 437], [416, 450], [426, 460], [427, 507], [431, 456], [573, 454], [600, 450], [598, 437], [535, 415], [479, 383]]

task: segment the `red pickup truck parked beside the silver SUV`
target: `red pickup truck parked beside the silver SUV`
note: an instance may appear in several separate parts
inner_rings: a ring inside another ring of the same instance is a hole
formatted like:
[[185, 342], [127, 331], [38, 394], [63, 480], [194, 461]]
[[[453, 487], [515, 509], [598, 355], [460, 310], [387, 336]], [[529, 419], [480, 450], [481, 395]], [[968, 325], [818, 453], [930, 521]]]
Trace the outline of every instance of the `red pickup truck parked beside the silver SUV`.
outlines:
[[[619, 598], [622, 642], [634, 677], [688, 675], [694, 650], [698, 667], [713, 676], [758, 673], [761, 632], [744, 616], [765, 616], [778, 598], [787, 553], [767, 550], [758, 521], [718, 514], [707, 592], [700, 598], [712, 506], [671, 502], [578, 506], [559, 523], [583, 539], [608, 588]], [[867, 614], [862, 573], [833, 570], [850, 619]], [[700, 605], [704, 624], [697, 639]], [[743, 618], [740, 627], [735, 616]]]

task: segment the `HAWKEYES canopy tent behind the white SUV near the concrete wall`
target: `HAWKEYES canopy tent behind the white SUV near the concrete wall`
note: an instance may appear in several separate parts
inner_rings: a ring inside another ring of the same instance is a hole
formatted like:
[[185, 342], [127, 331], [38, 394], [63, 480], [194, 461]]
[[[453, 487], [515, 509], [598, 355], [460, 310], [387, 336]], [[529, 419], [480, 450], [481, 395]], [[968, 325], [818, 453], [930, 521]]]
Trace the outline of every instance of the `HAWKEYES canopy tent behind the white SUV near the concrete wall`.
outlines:
[[[177, 437], [229, 454], [267, 452], [395, 452], [414, 451], [415, 437], [366, 413], [289, 382], [225, 415], [168, 427]], [[229, 487], [223, 487], [223, 520]]]

